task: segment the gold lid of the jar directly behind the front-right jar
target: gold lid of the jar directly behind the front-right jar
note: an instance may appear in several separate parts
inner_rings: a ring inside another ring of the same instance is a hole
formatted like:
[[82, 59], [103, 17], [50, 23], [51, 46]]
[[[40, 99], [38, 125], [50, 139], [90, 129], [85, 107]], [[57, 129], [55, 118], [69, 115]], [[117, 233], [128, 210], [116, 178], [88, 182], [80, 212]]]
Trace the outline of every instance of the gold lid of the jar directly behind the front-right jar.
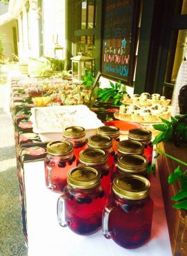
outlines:
[[146, 157], [137, 154], [126, 154], [117, 158], [117, 167], [122, 172], [145, 172], [148, 167], [148, 160]]

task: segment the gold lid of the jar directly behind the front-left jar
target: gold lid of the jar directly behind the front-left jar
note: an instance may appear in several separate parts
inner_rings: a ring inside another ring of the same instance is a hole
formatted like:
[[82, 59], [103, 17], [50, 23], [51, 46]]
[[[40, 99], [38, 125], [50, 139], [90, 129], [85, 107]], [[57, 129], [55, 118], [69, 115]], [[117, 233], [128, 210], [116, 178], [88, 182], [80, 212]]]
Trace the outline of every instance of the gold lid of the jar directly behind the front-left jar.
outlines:
[[108, 156], [102, 149], [89, 147], [79, 153], [79, 161], [88, 165], [103, 165], [107, 162], [107, 159]]

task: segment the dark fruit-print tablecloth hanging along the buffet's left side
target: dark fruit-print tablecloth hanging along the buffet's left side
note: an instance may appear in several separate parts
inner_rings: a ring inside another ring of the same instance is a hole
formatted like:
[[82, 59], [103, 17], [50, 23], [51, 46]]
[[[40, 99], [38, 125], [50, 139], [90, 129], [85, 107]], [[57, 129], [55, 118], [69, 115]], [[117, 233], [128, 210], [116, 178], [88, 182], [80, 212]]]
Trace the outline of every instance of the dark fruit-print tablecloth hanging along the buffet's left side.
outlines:
[[[27, 206], [26, 206], [26, 186], [24, 180], [24, 163], [35, 162], [44, 159], [46, 156], [46, 143], [42, 143], [39, 134], [35, 134], [32, 130], [32, 122], [30, 120], [31, 108], [35, 107], [32, 98], [26, 93], [24, 84], [32, 83], [28, 77], [10, 76], [8, 79], [5, 111], [12, 114], [14, 125], [14, 139], [17, 154], [17, 176], [19, 178], [21, 215], [23, 221], [23, 233], [28, 239], [27, 234]], [[54, 80], [52, 80], [54, 83]], [[117, 111], [108, 104], [102, 107], [95, 106], [95, 113], [102, 121], [108, 118], [115, 119], [113, 113]]]

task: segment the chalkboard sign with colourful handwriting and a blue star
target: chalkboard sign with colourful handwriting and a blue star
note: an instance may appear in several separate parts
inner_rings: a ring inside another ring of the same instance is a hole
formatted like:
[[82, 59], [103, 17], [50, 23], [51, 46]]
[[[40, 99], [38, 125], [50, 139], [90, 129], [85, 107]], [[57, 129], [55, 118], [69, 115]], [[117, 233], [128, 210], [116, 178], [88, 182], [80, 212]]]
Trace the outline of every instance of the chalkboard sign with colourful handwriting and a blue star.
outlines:
[[135, 0], [105, 0], [101, 73], [132, 84], [137, 5]]

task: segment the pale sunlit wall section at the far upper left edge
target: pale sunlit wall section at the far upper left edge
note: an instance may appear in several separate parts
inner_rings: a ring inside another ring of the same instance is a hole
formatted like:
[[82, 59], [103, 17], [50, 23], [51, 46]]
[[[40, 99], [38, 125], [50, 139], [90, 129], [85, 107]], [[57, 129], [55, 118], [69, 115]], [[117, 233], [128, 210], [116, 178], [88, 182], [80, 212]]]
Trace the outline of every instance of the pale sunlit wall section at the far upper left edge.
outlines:
[[10, 21], [0, 26], [0, 33], [4, 34], [4, 55], [9, 60], [12, 60], [12, 54], [14, 53], [14, 41], [12, 27], [16, 27], [16, 21]]

